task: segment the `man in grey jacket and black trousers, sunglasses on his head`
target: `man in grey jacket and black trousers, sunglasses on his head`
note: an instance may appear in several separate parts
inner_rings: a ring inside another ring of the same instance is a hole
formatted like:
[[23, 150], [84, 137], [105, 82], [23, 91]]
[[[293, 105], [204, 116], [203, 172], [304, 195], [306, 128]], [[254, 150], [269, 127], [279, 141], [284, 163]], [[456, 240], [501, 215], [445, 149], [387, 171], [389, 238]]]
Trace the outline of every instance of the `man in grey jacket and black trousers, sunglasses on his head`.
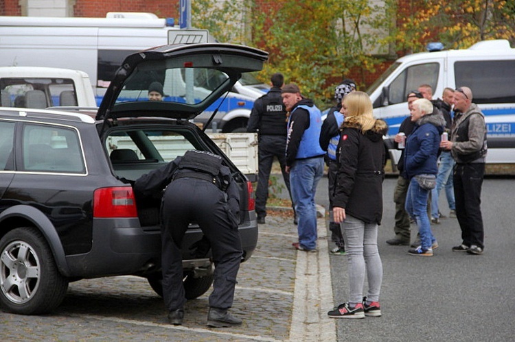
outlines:
[[451, 139], [440, 143], [440, 147], [453, 154], [456, 162], [453, 182], [462, 242], [453, 247], [453, 252], [483, 254], [481, 187], [487, 152], [485, 117], [476, 103], [472, 103], [472, 90], [466, 86], [455, 90], [454, 108], [457, 114]]

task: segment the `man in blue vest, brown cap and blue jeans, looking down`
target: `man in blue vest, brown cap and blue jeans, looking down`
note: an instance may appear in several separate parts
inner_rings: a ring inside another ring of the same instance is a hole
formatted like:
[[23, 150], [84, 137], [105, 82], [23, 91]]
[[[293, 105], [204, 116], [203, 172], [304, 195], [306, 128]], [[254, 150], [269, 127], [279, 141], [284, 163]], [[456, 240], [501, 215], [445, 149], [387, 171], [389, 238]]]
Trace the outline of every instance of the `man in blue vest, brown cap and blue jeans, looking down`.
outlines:
[[317, 252], [317, 208], [314, 195], [323, 175], [323, 155], [319, 144], [322, 127], [321, 112], [310, 99], [300, 93], [296, 84], [286, 84], [281, 90], [288, 116], [286, 138], [286, 172], [297, 212], [299, 242], [295, 249]]

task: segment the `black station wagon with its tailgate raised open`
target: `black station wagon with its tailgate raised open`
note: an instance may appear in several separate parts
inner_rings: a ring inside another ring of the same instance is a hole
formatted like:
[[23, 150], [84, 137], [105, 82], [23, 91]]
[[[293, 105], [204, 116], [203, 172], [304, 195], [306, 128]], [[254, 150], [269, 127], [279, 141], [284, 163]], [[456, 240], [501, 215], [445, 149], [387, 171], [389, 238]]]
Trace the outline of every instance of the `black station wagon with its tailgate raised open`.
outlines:
[[[247, 260], [258, 240], [251, 183], [191, 121], [267, 58], [240, 45], [163, 46], [128, 56], [97, 112], [0, 108], [1, 307], [46, 313], [69, 282], [106, 276], [141, 276], [161, 294], [160, 200], [138, 201], [130, 182], [190, 149], [231, 169]], [[149, 101], [152, 82], [163, 101]], [[194, 248], [201, 238], [192, 223], [182, 246], [188, 299], [213, 281], [210, 254]]]

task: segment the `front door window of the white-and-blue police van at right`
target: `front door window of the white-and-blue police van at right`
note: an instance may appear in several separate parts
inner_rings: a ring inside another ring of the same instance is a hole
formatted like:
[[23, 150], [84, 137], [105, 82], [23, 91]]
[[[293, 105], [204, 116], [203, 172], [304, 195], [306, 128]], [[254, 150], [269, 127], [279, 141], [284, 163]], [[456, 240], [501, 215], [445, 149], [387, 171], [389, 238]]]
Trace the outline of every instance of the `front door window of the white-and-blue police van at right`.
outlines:
[[389, 86], [389, 104], [405, 102], [409, 91], [417, 89], [420, 84], [436, 88], [439, 67], [439, 63], [424, 63], [409, 66], [402, 71]]

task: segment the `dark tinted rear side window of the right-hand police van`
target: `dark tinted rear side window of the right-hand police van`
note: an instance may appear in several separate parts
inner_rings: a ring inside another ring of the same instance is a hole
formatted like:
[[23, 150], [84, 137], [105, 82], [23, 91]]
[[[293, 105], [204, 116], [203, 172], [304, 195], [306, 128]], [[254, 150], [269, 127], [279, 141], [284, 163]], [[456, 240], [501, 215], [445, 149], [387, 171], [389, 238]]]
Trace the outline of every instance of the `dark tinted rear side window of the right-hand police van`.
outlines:
[[474, 103], [515, 102], [515, 60], [455, 62], [456, 86], [468, 86]]

